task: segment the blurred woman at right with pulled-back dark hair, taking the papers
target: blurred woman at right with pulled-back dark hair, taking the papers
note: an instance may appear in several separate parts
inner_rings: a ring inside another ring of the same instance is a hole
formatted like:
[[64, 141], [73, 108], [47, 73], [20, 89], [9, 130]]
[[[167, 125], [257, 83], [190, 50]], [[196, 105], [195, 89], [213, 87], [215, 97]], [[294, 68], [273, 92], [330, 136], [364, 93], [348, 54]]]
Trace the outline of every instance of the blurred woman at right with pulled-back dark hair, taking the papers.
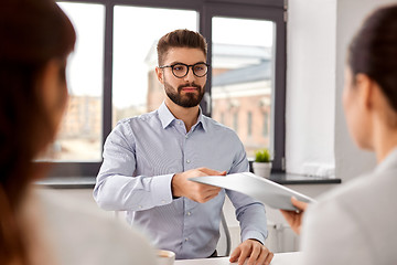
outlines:
[[351, 136], [377, 167], [281, 212], [298, 234], [302, 225], [302, 264], [397, 264], [397, 6], [375, 11], [353, 39], [343, 105]]

